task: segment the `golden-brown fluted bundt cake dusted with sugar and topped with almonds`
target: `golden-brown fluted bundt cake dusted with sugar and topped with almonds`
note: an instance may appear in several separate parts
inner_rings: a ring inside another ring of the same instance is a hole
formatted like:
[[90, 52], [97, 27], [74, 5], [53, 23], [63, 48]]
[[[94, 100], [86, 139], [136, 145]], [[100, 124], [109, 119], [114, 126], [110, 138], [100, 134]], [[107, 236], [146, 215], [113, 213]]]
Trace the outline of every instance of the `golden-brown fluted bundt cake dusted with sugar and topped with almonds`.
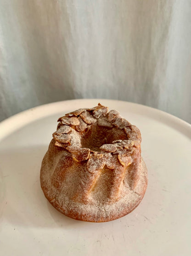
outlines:
[[58, 121], [40, 171], [48, 201], [76, 220], [101, 222], [129, 214], [147, 186], [139, 129], [100, 103]]

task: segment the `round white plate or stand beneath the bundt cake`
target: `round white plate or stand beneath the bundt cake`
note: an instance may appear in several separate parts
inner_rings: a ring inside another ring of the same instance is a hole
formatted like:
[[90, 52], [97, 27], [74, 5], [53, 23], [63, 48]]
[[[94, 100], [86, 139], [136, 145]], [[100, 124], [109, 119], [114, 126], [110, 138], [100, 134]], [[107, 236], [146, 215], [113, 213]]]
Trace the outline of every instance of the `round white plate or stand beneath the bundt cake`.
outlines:
[[[149, 182], [132, 213], [90, 223], [53, 208], [39, 172], [57, 118], [99, 101], [140, 128]], [[3, 121], [0, 255], [191, 255], [191, 125], [150, 107], [98, 99], [56, 102]]]

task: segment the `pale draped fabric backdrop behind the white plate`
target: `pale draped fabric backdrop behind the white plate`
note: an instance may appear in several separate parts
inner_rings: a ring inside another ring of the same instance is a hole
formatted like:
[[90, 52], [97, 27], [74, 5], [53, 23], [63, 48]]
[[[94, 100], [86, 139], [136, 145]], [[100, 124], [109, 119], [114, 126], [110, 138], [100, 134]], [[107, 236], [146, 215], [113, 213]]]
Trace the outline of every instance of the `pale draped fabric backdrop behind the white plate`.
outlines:
[[75, 98], [191, 123], [191, 0], [0, 0], [0, 119]]

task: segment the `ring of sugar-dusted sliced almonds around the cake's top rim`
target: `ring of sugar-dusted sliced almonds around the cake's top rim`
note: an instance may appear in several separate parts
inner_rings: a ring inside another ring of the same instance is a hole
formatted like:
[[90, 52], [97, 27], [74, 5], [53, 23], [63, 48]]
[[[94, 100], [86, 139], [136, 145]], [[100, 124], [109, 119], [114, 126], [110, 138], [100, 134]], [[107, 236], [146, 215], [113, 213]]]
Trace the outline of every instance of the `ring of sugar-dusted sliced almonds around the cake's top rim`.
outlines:
[[[85, 161], [92, 154], [97, 158], [102, 158], [104, 155], [118, 154], [119, 162], [124, 165], [124, 156], [131, 155], [133, 150], [140, 147], [141, 135], [139, 129], [135, 125], [131, 125], [124, 119], [118, 111], [111, 110], [108, 112], [108, 107], [98, 103], [98, 106], [92, 108], [80, 108], [73, 112], [67, 113], [58, 119], [57, 131], [53, 133], [55, 145], [67, 149], [75, 161]], [[92, 124], [98, 126], [116, 127], [119, 130], [124, 130], [127, 139], [115, 140], [111, 144], [103, 144], [100, 147], [101, 152], [82, 148], [80, 137]]]

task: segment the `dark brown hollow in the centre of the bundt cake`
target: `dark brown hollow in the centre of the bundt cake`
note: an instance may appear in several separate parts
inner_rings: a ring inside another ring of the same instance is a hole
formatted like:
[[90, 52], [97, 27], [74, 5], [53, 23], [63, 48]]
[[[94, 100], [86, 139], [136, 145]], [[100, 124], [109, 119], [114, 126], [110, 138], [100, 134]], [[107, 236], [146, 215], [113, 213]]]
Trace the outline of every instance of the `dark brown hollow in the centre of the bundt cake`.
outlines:
[[124, 139], [127, 139], [124, 130], [120, 130], [116, 127], [108, 128], [92, 124], [81, 138], [81, 145], [82, 148], [89, 148], [100, 152], [99, 148], [103, 144], [111, 144], [114, 140]]

